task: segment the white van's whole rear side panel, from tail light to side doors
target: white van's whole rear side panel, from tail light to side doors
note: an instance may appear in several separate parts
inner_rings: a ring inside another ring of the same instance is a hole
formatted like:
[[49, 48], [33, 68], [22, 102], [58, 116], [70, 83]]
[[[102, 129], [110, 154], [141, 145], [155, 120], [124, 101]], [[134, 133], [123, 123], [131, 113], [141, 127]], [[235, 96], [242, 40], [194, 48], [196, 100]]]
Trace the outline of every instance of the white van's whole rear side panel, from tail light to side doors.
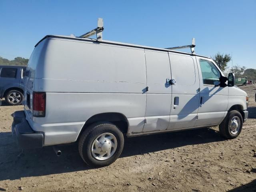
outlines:
[[[146, 110], [144, 49], [50, 39], [36, 67], [34, 91], [46, 92], [46, 116], [29, 120], [44, 145], [76, 141], [91, 116], [118, 112], [141, 132]], [[46, 124], [47, 122], [47, 124]]]

